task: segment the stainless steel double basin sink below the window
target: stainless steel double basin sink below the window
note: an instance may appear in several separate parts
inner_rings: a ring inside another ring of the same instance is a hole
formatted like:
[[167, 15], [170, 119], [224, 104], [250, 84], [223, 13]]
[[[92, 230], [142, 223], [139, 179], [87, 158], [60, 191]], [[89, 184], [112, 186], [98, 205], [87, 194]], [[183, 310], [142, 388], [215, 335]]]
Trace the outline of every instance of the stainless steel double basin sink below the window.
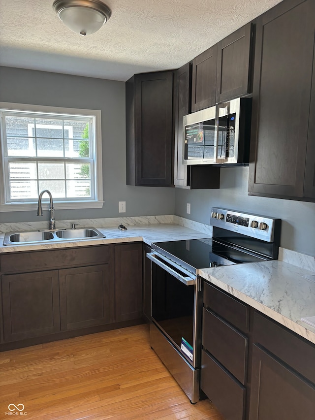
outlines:
[[82, 229], [37, 230], [32, 232], [7, 232], [3, 245], [32, 244], [34, 242], [60, 242], [82, 239], [101, 239], [105, 236], [94, 227]]

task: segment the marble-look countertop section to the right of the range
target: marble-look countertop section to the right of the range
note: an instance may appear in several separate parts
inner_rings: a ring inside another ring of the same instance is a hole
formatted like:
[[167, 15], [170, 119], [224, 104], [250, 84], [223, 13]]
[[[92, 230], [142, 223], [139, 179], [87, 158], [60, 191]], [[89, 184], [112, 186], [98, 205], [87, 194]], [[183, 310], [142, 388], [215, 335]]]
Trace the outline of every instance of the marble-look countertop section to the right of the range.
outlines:
[[315, 327], [301, 318], [315, 316], [314, 272], [273, 260], [199, 270], [201, 277], [315, 343]]

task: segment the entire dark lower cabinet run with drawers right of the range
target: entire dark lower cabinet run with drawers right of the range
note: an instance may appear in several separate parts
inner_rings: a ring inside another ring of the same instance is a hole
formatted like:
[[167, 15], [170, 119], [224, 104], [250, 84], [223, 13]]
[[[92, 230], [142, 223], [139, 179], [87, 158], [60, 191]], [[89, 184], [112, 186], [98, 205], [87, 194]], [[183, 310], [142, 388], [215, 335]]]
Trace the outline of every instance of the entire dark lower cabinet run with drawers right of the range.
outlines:
[[225, 420], [314, 420], [315, 345], [204, 282], [201, 390]]

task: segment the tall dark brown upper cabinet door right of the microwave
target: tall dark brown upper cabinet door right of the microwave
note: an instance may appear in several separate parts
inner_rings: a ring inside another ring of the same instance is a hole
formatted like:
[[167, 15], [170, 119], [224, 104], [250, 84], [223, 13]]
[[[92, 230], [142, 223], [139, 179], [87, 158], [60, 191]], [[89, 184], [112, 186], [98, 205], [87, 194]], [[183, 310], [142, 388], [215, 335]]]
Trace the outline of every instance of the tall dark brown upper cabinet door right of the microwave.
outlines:
[[303, 196], [315, 2], [298, 2], [281, 2], [257, 20], [250, 194]]

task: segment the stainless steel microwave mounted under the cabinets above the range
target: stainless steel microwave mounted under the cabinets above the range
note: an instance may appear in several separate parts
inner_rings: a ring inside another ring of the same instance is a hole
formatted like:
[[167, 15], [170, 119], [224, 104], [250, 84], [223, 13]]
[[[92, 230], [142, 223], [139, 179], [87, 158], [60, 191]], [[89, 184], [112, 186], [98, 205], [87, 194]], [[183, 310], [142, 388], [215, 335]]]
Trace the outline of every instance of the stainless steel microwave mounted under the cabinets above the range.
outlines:
[[252, 98], [236, 98], [186, 115], [185, 165], [249, 163]]

